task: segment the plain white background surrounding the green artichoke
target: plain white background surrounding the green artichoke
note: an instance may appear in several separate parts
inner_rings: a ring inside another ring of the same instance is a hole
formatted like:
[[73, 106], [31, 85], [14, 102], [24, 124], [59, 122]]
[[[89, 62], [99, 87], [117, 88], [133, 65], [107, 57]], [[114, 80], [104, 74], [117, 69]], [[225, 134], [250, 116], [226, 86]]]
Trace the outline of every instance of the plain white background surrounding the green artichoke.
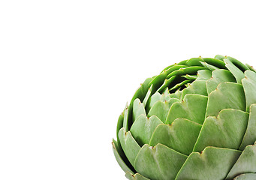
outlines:
[[0, 179], [125, 179], [111, 147], [147, 77], [255, 65], [253, 1], [0, 1]]

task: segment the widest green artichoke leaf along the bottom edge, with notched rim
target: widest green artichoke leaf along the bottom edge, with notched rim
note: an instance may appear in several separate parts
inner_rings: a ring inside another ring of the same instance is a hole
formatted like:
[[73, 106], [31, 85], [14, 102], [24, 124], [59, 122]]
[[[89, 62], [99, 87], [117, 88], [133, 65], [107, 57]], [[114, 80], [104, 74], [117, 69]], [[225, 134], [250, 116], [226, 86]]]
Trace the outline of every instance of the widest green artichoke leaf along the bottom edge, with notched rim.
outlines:
[[192, 152], [175, 179], [224, 179], [240, 154], [237, 150], [215, 147], [206, 147], [201, 153]]

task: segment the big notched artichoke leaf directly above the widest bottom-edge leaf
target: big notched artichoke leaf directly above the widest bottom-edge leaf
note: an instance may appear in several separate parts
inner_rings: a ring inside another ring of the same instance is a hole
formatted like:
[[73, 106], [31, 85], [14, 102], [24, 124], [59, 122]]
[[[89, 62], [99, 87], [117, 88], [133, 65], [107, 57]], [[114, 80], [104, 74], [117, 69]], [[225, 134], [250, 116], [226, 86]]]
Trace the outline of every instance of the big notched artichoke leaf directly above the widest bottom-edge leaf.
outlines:
[[217, 118], [209, 116], [194, 145], [194, 151], [207, 146], [238, 149], [247, 127], [248, 113], [240, 110], [221, 110]]

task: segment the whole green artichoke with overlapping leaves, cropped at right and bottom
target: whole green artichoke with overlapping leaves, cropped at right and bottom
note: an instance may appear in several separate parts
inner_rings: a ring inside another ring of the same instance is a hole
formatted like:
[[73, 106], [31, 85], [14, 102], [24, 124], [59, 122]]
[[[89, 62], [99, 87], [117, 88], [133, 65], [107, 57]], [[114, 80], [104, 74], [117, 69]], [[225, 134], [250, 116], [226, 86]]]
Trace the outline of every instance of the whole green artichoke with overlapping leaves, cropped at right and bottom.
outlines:
[[235, 58], [191, 58], [148, 78], [117, 123], [128, 179], [256, 179], [256, 73]]

